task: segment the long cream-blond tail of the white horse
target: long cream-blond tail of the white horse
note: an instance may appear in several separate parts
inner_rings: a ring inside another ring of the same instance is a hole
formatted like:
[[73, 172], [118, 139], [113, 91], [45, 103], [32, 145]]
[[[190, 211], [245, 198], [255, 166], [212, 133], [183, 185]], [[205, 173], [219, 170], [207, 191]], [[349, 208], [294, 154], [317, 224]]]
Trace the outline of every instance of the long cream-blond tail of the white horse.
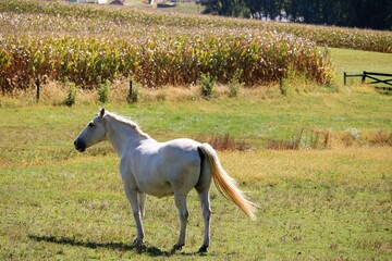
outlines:
[[236, 186], [235, 179], [223, 170], [216, 150], [209, 144], [203, 144], [199, 149], [209, 162], [212, 178], [218, 190], [238, 206], [252, 220], [256, 220], [255, 211], [257, 206], [244, 196]]

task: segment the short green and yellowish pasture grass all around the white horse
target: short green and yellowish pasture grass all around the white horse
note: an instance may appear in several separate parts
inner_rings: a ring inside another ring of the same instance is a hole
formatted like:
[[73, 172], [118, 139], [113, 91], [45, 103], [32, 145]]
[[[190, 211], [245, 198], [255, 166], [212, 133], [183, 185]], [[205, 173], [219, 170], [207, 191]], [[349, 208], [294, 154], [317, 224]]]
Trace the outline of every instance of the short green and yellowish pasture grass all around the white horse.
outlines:
[[391, 97], [355, 89], [264, 95], [107, 105], [138, 122], [158, 140], [230, 134], [255, 144], [250, 151], [220, 151], [219, 156], [260, 206], [257, 221], [247, 219], [213, 187], [211, 246], [204, 256], [196, 252], [203, 221], [195, 191], [188, 199], [191, 217], [182, 251], [170, 254], [179, 233], [171, 197], [149, 198], [146, 248], [138, 252], [131, 247], [136, 228], [118, 157], [108, 144], [85, 153], [73, 149], [73, 139], [98, 105], [37, 105], [3, 98], [0, 259], [390, 259], [391, 147], [272, 151], [257, 145], [291, 137], [304, 126], [391, 132]]

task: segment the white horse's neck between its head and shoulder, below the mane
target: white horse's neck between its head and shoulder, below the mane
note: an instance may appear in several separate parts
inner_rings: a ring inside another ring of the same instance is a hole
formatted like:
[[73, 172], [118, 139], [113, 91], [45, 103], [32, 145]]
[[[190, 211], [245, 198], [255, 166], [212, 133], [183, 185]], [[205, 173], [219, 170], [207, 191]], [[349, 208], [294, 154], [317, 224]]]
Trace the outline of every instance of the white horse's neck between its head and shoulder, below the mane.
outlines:
[[137, 142], [145, 137], [142, 137], [135, 129], [124, 123], [117, 122], [113, 119], [106, 120], [107, 139], [113, 146], [117, 153], [121, 157], [125, 148], [131, 142]]

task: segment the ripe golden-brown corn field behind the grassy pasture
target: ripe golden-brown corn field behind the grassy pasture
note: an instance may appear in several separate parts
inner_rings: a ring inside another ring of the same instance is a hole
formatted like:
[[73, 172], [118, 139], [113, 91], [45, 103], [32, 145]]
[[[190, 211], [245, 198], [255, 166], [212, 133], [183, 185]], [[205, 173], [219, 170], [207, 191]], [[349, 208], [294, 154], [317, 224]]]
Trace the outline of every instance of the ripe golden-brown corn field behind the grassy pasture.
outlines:
[[[2, 92], [27, 89], [36, 78], [95, 88], [132, 77], [158, 88], [194, 85], [204, 74], [254, 86], [294, 73], [326, 85], [332, 62], [316, 35], [359, 32], [37, 0], [1, 1], [0, 28]], [[375, 32], [387, 41], [379, 45], [360, 32], [364, 42], [392, 51], [391, 34]]]

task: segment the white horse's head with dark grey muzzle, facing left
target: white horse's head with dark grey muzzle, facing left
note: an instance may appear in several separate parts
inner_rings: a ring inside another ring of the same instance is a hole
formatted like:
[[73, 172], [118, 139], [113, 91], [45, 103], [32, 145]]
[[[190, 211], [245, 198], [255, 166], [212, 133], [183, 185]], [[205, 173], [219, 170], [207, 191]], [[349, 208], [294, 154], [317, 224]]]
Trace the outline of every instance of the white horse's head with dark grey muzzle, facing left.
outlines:
[[103, 125], [105, 109], [90, 121], [74, 141], [75, 149], [84, 152], [88, 147], [105, 140], [106, 129]]

